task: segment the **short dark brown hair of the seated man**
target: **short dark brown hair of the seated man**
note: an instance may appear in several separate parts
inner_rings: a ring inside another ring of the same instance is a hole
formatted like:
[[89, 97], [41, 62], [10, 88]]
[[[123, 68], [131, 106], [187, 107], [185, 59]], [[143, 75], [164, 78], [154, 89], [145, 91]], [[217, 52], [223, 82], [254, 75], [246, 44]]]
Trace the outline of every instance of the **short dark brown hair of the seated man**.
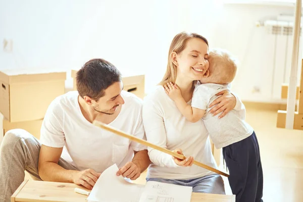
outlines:
[[118, 69], [103, 59], [92, 59], [86, 62], [76, 76], [79, 95], [89, 96], [96, 101], [105, 95], [105, 89], [120, 81], [121, 73]]

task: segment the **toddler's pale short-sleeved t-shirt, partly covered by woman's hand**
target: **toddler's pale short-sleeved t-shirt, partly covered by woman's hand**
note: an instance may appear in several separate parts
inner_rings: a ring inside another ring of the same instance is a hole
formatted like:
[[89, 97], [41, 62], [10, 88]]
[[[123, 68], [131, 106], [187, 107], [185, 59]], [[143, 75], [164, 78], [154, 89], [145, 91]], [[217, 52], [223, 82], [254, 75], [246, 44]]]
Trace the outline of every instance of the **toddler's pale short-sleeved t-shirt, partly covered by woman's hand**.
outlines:
[[245, 122], [245, 107], [242, 103], [240, 110], [231, 110], [221, 119], [218, 118], [221, 113], [216, 116], [209, 113], [209, 105], [220, 96], [216, 94], [228, 88], [227, 84], [197, 84], [192, 96], [191, 107], [206, 110], [203, 121], [217, 149], [241, 141], [254, 132]]

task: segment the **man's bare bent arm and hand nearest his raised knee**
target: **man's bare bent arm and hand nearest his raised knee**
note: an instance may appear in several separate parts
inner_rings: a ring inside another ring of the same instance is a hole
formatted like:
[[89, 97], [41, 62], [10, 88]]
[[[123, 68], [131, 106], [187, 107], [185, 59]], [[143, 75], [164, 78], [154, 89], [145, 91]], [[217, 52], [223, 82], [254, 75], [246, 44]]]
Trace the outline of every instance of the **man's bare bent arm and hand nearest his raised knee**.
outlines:
[[92, 189], [97, 181], [100, 173], [96, 173], [92, 169], [84, 171], [66, 170], [58, 165], [63, 147], [49, 147], [41, 145], [38, 171], [39, 176], [44, 181], [68, 182], [83, 185], [88, 189]]

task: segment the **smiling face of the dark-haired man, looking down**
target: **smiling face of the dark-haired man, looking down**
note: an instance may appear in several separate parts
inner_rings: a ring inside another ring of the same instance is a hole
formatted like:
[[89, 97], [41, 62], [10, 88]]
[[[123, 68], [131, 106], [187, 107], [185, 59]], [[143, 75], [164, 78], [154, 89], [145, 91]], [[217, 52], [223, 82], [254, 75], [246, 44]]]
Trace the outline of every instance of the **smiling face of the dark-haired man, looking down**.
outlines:
[[103, 114], [114, 114], [119, 105], [124, 104], [124, 99], [121, 96], [123, 83], [115, 82], [105, 90], [105, 95], [100, 97], [96, 102], [91, 100], [91, 107], [93, 110]]

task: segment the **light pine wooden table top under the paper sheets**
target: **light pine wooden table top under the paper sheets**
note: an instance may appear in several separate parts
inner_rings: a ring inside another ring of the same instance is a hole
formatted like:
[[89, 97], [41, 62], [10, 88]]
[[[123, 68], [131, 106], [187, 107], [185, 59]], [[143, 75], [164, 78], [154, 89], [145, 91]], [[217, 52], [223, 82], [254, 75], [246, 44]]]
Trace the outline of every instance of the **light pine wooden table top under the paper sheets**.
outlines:
[[[74, 188], [82, 188], [73, 183], [44, 182], [25, 180], [11, 197], [11, 201], [43, 201], [43, 202], [87, 202], [87, 195], [74, 192]], [[88, 189], [86, 189], [88, 190]], [[235, 195], [211, 193], [192, 193], [191, 202], [234, 202]]]

